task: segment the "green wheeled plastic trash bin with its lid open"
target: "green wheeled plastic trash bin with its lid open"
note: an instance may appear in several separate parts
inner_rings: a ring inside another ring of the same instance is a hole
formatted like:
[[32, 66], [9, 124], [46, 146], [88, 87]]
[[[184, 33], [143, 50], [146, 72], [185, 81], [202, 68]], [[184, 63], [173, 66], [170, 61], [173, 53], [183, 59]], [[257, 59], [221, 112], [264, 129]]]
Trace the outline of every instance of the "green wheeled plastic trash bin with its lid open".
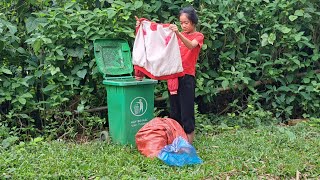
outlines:
[[107, 90], [111, 139], [119, 144], [135, 145], [136, 133], [153, 118], [157, 81], [137, 81], [132, 76], [131, 52], [126, 40], [97, 39], [94, 55]]

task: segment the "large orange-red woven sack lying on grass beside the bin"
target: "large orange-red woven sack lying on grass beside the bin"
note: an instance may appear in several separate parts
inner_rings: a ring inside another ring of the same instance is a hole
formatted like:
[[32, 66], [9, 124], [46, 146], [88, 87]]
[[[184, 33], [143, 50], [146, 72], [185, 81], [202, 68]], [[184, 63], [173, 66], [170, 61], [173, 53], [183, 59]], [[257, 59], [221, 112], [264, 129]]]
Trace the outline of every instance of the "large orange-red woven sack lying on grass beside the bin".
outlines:
[[171, 118], [156, 117], [145, 124], [136, 134], [137, 148], [147, 157], [157, 157], [160, 150], [172, 144], [177, 137], [188, 139], [180, 124]]

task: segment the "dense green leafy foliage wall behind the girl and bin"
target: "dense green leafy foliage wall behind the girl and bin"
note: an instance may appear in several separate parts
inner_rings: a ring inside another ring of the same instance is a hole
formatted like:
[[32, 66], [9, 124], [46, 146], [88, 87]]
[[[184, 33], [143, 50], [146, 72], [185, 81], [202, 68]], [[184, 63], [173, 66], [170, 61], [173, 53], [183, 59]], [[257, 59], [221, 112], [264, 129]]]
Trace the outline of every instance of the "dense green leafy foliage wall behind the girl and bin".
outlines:
[[[37, 129], [60, 136], [101, 127], [100, 114], [83, 113], [105, 104], [92, 41], [132, 44], [134, 15], [178, 23], [179, 9], [190, 4], [205, 35], [196, 93], [206, 112], [250, 119], [253, 107], [283, 120], [319, 117], [317, 0], [101, 2], [0, 2], [1, 127], [26, 137]], [[165, 94], [160, 83], [156, 95]]]

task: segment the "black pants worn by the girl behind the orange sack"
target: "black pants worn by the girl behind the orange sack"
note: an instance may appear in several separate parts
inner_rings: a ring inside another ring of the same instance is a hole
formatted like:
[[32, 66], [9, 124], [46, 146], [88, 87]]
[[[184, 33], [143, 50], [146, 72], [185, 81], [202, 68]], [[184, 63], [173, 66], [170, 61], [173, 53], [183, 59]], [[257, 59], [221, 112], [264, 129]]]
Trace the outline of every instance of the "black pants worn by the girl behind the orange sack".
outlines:
[[194, 131], [195, 77], [179, 77], [178, 94], [170, 95], [170, 118], [175, 119], [187, 134]]

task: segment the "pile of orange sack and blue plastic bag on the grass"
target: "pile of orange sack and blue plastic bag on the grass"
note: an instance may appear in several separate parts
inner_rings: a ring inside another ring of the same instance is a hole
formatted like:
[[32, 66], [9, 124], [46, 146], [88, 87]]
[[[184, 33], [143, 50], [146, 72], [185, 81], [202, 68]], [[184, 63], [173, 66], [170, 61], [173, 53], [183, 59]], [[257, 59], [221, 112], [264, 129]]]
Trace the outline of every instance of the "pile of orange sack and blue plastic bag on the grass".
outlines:
[[150, 158], [158, 157], [168, 165], [202, 163], [195, 148], [188, 143], [183, 128], [174, 119], [152, 119], [137, 132], [135, 139], [141, 154]]

